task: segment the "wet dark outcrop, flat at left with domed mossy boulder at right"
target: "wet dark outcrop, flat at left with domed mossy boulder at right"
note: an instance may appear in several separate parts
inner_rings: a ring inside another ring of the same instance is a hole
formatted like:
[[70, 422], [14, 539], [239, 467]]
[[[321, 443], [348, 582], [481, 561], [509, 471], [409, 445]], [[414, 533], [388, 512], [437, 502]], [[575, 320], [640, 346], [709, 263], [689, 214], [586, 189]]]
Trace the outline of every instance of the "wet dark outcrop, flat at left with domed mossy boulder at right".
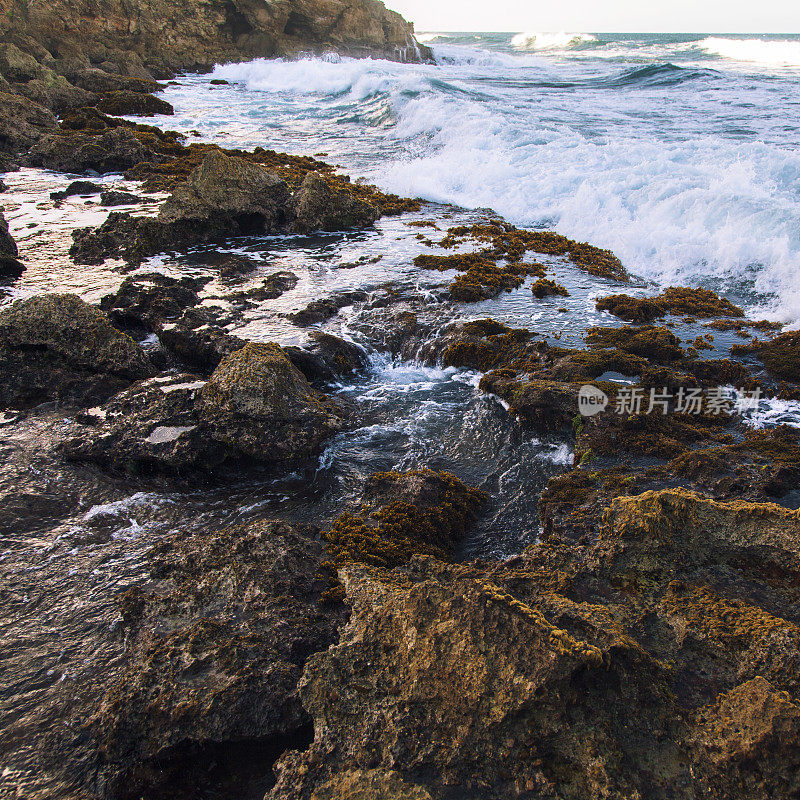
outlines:
[[[241, 342], [240, 342], [241, 344]], [[189, 476], [231, 462], [297, 464], [345, 427], [275, 344], [246, 343], [206, 381], [171, 374], [134, 384], [83, 414], [68, 458], [131, 474]]]

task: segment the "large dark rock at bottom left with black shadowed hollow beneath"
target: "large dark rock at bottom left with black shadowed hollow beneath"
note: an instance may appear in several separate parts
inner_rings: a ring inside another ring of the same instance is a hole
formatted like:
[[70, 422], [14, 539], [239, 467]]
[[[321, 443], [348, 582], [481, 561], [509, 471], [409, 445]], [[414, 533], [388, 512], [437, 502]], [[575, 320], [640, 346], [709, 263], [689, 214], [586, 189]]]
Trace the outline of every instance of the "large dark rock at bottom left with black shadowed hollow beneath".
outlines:
[[263, 794], [277, 755], [307, 741], [297, 681], [341, 618], [319, 605], [321, 560], [317, 539], [270, 520], [153, 549], [150, 585], [121, 598], [124, 671], [91, 726], [112, 796]]

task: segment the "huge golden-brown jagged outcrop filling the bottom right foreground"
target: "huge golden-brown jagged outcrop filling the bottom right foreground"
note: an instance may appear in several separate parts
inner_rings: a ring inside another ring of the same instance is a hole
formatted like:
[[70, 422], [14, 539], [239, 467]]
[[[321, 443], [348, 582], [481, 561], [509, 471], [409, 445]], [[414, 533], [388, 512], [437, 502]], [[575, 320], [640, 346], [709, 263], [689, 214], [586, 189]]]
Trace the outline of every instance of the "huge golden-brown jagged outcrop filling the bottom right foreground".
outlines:
[[681, 490], [507, 564], [345, 565], [269, 797], [795, 796], [798, 574], [797, 512]]

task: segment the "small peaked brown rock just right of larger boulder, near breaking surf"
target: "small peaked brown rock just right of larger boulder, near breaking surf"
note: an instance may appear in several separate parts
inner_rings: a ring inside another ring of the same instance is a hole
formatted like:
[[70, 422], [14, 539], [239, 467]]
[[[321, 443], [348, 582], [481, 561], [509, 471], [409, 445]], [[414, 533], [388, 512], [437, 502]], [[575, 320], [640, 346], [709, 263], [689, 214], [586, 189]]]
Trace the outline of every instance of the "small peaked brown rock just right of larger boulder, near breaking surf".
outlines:
[[309, 172], [295, 195], [299, 231], [363, 228], [380, 217], [380, 209], [337, 188], [318, 172]]

